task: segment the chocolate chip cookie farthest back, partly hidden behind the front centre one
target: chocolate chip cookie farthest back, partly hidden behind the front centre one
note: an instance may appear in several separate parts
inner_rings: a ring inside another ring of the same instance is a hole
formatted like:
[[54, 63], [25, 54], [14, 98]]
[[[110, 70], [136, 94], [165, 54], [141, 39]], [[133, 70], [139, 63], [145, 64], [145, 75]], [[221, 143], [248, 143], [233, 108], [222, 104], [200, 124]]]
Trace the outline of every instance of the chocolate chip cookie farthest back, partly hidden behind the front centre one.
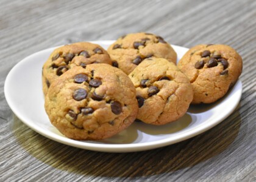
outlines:
[[113, 66], [129, 75], [135, 67], [149, 57], [165, 58], [176, 63], [177, 54], [162, 37], [151, 33], [131, 33], [122, 36], [110, 47], [108, 53]]

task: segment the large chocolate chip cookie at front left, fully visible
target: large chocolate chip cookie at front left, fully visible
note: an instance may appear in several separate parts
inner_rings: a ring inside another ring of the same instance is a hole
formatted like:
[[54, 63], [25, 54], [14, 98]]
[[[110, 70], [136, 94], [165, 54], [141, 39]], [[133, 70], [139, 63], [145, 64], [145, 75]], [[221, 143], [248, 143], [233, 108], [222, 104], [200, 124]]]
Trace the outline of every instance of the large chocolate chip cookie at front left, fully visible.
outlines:
[[136, 118], [136, 90], [129, 77], [108, 64], [74, 67], [56, 78], [45, 98], [49, 119], [74, 140], [101, 140]]

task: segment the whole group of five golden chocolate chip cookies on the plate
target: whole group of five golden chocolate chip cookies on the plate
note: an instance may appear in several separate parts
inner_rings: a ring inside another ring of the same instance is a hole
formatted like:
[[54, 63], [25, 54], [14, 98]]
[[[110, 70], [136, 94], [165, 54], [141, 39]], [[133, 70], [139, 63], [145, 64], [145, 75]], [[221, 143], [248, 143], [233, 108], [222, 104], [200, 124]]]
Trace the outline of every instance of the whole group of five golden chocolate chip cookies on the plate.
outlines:
[[151, 33], [122, 36], [108, 50], [89, 42], [55, 49], [43, 66], [45, 109], [74, 140], [101, 140], [133, 121], [162, 125], [191, 103], [213, 103], [241, 74], [242, 59], [227, 45], [197, 45], [177, 54]]

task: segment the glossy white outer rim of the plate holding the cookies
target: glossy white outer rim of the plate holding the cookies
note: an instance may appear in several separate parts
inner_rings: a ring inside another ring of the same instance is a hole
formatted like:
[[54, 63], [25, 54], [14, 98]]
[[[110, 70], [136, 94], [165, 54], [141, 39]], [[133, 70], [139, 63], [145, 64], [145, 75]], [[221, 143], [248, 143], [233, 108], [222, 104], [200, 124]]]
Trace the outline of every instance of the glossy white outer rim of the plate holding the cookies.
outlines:
[[[114, 42], [114, 40], [89, 41], [89, 42], [92, 42], [94, 44], [112, 44]], [[19, 61], [17, 64], [15, 64], [15, 66], [12, 67], [12, 69], [10, 70], [10, 72], [8, 73], [8, 75], [5, 78], [4, 95], [5, 95], [7, 104], [9, 105], [12, 112], [24, 124], [26, 124], [28, 127], [30, 127], [30, 129], [34, 130], [37, 133], [40, 133], [41, 135], [45, 136], [46, 138], [49, 138], [51, 140], [57, 141], [62, 144], [66, 144], [68, 146], [78, 147], [80, 149], [94, 150], [94, 151], [98, 151], [98, 152], [138, 152], [138, 151], [142, 151], [142, 150], [150, 150], [150, 149], [155, 149], [158, 147], [168, 146], [170, 144], [179, 143], [180, 141], [187, 140], [188, 138], [192, 138], [193, 136], [199, 135], [199, 134], [211, 129], [212, 127], [216, 126], [217, 124], [219, 124], [223, 120], [225, 120], [231, 113], [233, 113], [233, 111], [236, 109], [236, 107], [240, 103], [243, 86], [242, 86], [240, 79], [238, 78], [235, 85], [232, 87], [232, 89], [234, 89], [235, 87], [238, 87], [238, 93], [236, 94], [236, 95], [238, 95], [238, 97], [235, 100], [236, 103], [232, 106], [232, 109], [230, 109], [229, 112], [226, 112], [224, 115], [218, 116], [219, 119], [215, 118], [215, 120], [212, 120], [209, 123], [204, 123], [204, 124], [202, 124], [202, 126], [199, 125], [197, 127], [193, 127], [193, 129], [187, 130], [185, 133], [181, 132], [178, 135], [173, 136], [172, 138], [168, 137], [168, 138], [157, 140], [157, 141], [149, 141], [149, 142], [145, 142], [145, 143], [129, 143], [129, 144], [88, 143], [86, 141], [72, 140], [72, 139], [66, 138], [66, 136], [61, 136], [54, 132], [49, 132], [49, 131], [47, 132], [46, 129], [41, 128], [34, 122], [30, 122], [30, 120], [27, 121], [26, 118], [24, 118], [24, 116], [22, 115], [22, 113], [20, 113], [15, 108], [15, 106], [12, 103], [12, 99], [10, 98], [9, 93], [8, 93], [8, 88], [10, 87], [9, 79], [11, 78], [13, 73], [15, 73], [15, 71], [18, 69], [20, 64], [23, 64], [23, 62], [26, 62], [27, 59], [29, 59], [30, 57], [32, 57], [34, 55], [37, 55], [38, 53], [47, 52], [49, 49], [55, 49], [60, 46], [62, 46], [62, 45], [59, 45], [56, 47], [51, 47], [48, 49], [44, 49], [44, 50], [40, 50], [38, 52], [32, 53], [31, 55], [26, 56], [26, 58], [21, 59], [21, 61]], [[188, 48], [181, 47], [179, 45], [171, 44], [171, 46], [174, 48], [174, 50], [177, 48], [186, 49], [186, 51], [188, 50]]]

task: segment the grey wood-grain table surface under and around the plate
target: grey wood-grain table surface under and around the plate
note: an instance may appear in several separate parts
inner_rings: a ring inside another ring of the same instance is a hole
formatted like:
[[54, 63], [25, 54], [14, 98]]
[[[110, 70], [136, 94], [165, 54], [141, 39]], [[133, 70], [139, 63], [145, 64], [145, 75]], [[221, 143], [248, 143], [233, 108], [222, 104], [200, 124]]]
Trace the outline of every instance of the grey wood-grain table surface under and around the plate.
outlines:
[[[180, 143], [104, 153], [52, 141], [23, 124], [4, 96], [15, 64], [77, 41], [151, 32], [171, 44], [227, 44], [243, 57], [243, 95], [222, 123]], [[256, 181], [256, 1], [0, 2], [0, 181]]]

